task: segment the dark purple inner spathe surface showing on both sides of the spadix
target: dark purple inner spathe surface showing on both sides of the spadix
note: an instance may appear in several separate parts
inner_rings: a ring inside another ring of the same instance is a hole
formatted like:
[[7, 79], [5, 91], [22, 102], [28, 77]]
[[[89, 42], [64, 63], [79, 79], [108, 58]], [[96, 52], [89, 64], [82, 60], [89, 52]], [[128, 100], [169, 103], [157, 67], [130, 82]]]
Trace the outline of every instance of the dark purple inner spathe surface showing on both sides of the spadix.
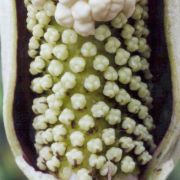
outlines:
[[[33, 113], [31, 110], [33, 94], [30, 90], [30, 58], [27, 55], [29, 34], [26, 30], [26, 10], [23, 2], [17, 3], [18, 13], [18, 51], [17, 51], [17, 84], [14, 101], [14, 124], [27, 161], [36, 166], [36, 153], [33, 147], [32, 130]], [[163, 4], [152, 0], [150, 4], [150, 41], [152, 48], [151, 69], [154, 75], [153, 116], [157, 125], [155, 134], [159, 143], [166, 132], [171, 117], [171, 81], [163, 28]], [[24, 18], [22, 18], [24, 17]], [[166, 82], [166, 83], [164, 83]], [[168, 109], [168, 111], [167, 111]]]

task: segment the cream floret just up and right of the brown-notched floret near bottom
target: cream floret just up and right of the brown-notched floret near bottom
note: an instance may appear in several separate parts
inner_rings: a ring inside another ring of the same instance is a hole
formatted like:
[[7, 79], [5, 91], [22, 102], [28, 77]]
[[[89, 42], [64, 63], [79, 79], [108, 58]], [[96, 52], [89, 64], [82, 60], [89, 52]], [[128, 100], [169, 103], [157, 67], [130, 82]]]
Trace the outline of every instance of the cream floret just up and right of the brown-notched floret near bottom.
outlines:
[[103, 150], [103, 143], [101, 139], [96, 138], [96, 139], [91, 139], [87, 143], [87, 149], [91, 153], [99, 153], [102, 152]]

